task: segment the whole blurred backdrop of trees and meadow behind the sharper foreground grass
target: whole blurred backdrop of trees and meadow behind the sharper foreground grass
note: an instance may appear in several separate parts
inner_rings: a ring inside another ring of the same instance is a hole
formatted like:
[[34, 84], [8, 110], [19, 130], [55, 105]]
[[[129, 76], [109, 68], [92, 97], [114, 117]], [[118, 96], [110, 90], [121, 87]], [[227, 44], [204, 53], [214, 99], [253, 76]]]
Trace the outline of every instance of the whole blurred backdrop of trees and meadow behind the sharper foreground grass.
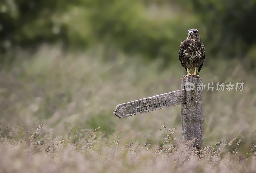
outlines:
[[179, 106], [126, 119], [113, 110], [180, 89], [180, 43], [196, 28], [206, 49], [203, 82], [245, 83], [235, 94], [203, 93], [204, 142], [240, 137], [249, 145], [255, 17], [256, 0], [1, 0], [0, 125], [44, 123], [56, 133], [100, 126], [154, 143], [166, 123], [181, 138]]

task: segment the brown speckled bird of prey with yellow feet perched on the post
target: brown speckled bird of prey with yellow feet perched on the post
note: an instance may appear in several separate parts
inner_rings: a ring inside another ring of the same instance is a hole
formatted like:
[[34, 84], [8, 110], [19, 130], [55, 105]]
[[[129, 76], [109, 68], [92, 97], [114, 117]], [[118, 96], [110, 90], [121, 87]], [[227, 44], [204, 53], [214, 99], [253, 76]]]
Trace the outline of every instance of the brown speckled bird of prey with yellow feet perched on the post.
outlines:
[[180, 44], [179, 59], [188, 73], [185, 77], [191, 75], [199, 76], [196, 73], [199, 73], [203, 66], [205, 49], [197, 29], [188, 30], [188, 38]]

